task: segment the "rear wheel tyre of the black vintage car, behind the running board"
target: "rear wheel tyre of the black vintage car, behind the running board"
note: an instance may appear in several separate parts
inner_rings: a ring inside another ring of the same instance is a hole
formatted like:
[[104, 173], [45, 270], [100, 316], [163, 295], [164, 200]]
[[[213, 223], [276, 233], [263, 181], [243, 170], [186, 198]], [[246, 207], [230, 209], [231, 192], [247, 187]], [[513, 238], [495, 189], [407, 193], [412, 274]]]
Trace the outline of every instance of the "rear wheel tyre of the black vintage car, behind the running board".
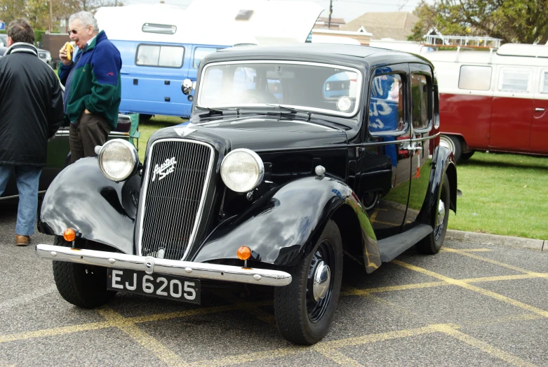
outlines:
[[[443, 203], [443, 211], [441, 211], [441, 204]], [[434, 255], [438, 253], [443, 241], [446, 238], [447, 225], [449, 219], [449, 207], [450, 207], [450, 185], [449, 178], [446, 174], [443, 175], [443, 182], [438, 193], [438, 199], [436, 200], [436, 207], [432, 208], [432, 226], [434, 231], [431, 234], [422, 239], [415, 245], [417, 251], [420, 253], [426, 253]]]

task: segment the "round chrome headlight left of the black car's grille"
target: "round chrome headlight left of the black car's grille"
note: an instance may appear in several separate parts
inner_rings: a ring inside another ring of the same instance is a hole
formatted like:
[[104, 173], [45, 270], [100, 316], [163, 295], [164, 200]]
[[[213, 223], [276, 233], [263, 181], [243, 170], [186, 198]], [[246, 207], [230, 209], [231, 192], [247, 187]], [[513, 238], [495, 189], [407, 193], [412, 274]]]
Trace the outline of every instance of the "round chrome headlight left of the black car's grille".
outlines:
[[126, 180], [139, 165], [137, 149], [130, 142], [113, 139], [105, 142], [99, 152], [99, 168], [109, 180]]

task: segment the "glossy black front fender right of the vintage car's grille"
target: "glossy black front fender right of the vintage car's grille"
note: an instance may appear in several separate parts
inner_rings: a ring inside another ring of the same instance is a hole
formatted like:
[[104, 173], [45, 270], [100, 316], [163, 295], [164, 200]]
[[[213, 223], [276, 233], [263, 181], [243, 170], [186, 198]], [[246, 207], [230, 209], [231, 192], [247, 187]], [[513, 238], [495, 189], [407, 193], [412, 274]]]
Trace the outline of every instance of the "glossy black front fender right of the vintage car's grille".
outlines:
[[237, 259], [237, 248], [246, 245], [262, 262], [295, 265], [312, 250], [331, 215], [345, 205], [352, 207], [353, 222], [361, 227], [353, 240], [361, 241], [363, 254], [374, 257], [378, 248], [373, 227], [352, 189], [339, 180], [309, 177], [270, 190], [248, 211], [223, 222], [192, 261]]

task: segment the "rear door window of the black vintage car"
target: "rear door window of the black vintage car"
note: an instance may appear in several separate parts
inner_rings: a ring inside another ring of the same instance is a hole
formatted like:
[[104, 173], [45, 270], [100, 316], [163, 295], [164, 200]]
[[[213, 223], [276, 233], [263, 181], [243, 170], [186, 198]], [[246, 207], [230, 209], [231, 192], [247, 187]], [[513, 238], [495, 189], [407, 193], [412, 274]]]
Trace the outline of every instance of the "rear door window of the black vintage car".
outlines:
[[432, 82], [429, 77], [422, 74], [411, 76], [411, 105], [413, 128], [427, 128], [432, 116]]

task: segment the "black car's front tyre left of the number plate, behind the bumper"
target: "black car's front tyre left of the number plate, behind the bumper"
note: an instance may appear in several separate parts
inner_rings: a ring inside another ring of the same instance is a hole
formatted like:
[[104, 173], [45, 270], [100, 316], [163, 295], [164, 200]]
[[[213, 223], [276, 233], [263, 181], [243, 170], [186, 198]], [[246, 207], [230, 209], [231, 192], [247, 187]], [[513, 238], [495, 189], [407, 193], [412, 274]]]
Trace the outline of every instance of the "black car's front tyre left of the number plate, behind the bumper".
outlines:
[[[62, 236], [55, 236], [55, 246], [70, 247]], [[116, 295], [107, 291], [107, 268], [74, 262], [54, 261], [53, 279], [62, 298], [72, 305], [95, 308], [109, 302]]]

